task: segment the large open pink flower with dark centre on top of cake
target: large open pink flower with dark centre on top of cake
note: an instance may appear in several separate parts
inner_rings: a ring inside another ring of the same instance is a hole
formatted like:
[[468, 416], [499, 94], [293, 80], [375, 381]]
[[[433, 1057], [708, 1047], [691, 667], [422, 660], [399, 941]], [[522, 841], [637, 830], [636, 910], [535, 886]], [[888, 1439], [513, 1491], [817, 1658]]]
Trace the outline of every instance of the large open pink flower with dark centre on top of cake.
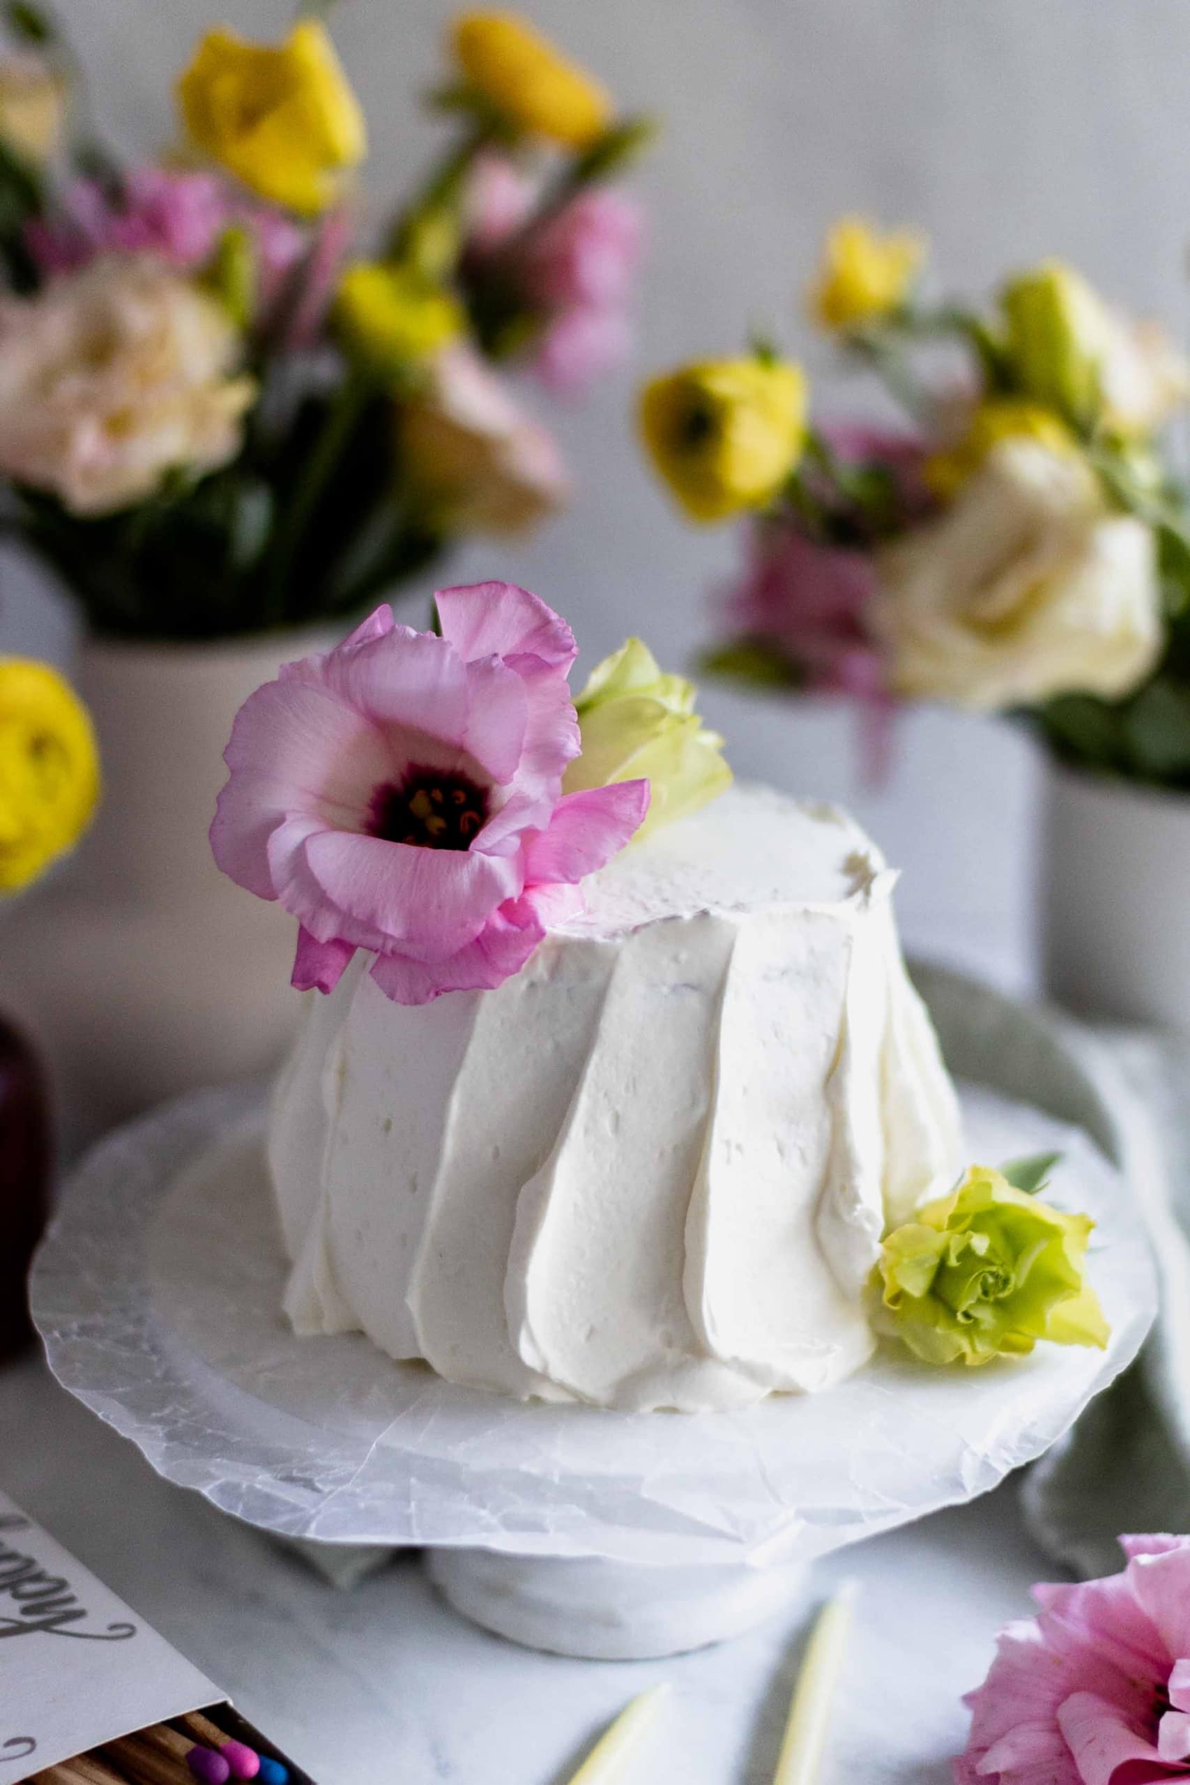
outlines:
[[562, 794], [576, 652], [544, 602], [492, 582], [437, 609], [441, 637], [378, 607], [236, 718], [211, 846], [298, 919], [302, 991], [357, 948], [396, 1003], [501, 985], [646, 816], [644, 780]]

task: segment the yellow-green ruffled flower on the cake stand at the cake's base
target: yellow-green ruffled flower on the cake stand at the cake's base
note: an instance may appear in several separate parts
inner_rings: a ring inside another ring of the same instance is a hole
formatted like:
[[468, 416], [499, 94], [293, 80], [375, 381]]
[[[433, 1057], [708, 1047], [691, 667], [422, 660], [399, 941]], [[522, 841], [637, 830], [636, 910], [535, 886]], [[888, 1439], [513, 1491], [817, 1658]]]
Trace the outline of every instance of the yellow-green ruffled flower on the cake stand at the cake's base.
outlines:
[[926, 1364], [988, 1364], [1038, 1339], [1103, 1348], [1110, 1328], [1083, 1274], [1092, 1226], [972, 1166], [887, 1235], [872, 1274], [878, 1330]]

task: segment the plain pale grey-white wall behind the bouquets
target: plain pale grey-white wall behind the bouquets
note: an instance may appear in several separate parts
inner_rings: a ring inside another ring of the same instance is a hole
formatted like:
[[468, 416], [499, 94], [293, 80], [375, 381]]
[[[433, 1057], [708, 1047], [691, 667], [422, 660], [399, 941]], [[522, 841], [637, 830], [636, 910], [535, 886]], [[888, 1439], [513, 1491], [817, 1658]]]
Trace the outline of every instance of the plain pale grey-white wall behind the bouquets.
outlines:
[[[642, 471], [635, 378], [733, 348], [751, 323], [808, 359], [819, 398], [871, 400], [799, 314], [826, 223], [860, 209], [933, 239], [938, 277], [976, 291], [1045, 253], [1183, 332], [1190, 225], [1188, 0], [525, 0], [624, 107], [665, 123], [639, 187], [651, 212], [635, 364], [558, 414], [573, 511], [526, 546], [473, 544], [451, 575], [508, 575], [562, 607], [589, 653], [644, 632], [673, 664], [707, 634], [723, 532], [685, 527]], [[171, 129], [169, 79], [211, 0], [59, 0], [95, 105], [128, 152]], [[216, 11], [219, 11], [216, 7]], [[234, 0], [230, 23], [284, 30], [287, 0]], [[343, 0], [334, 32], [371, 127], [382, 205], [434, 155], [416, 93], [439, 75], [448, 0]], [[59, 605], [9, 562], [0, 650], [70, 653]], [[906, 868], [903, 923], [933, 953], [1028, 975], [1035, 764], [999, 728], [913, 716], [897, 768], [856, 780], [842, 714], [708, 698], [740, 768], [858, 805]]]

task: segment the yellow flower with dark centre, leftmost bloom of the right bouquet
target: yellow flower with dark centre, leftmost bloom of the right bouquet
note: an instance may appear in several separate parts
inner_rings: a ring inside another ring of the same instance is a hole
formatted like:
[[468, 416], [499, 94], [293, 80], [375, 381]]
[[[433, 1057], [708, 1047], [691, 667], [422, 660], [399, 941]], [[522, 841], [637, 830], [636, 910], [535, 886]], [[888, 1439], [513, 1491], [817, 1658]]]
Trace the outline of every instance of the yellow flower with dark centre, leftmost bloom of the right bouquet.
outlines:
[[705, 361], [646, 384], [639, 416], [687, 514], [723, 521], [771, 502], [801, 459], [806, 378], [787, 361]]

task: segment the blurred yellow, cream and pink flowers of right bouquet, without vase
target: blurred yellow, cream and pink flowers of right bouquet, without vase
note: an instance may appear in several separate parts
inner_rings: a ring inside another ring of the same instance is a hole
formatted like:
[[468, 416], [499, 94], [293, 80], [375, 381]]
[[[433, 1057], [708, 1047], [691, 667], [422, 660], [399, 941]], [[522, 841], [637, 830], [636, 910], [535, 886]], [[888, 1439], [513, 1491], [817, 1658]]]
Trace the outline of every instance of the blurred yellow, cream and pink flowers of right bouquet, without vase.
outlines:
[[698, 521], [746, 518], [708, 664], [771, 685], [1028, 710], [1065, 760], [1190, 789], [1190, 496], [1161, 430], [1190, 364], [1060, 262], [985, 307], [921, 295], [924, 243], [830, 234], [814, 320], [906, 425], [817, 425], [767, 343], [640, 396]]

